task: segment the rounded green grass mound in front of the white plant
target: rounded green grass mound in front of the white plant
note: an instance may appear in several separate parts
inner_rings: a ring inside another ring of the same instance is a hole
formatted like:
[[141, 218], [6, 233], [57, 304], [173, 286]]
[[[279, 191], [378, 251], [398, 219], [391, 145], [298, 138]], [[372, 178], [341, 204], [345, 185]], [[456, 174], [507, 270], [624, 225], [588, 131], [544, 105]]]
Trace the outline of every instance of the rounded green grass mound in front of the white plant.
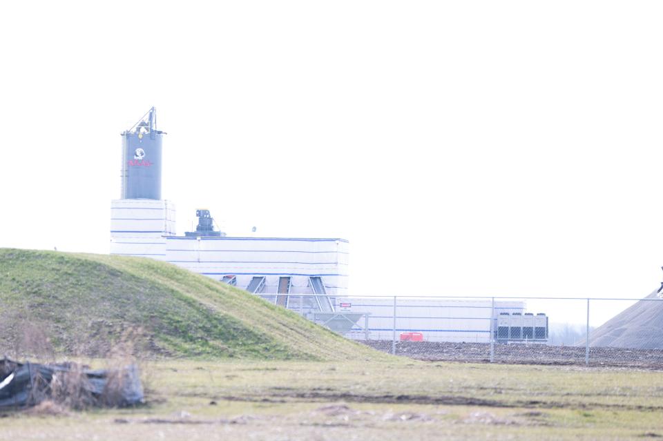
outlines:
[[172, 264], [0, 248], [0, 354], [48, 336], [57, 353], [104, 356], [129, 334], [143, 351], [177, 357], [385, 357]]

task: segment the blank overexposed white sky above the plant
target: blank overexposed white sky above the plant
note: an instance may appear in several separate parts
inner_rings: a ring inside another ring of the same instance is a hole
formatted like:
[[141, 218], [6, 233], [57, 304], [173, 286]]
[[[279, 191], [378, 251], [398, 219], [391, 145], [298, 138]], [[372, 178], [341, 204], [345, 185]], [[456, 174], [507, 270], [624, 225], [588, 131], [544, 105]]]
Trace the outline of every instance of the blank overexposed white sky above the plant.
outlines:
[[0, 6], [0, 246], [107, 253], [156, 106], [180, 233], [345, 237], [356, 295], [661, 280], [663, 3], [95, 3]]

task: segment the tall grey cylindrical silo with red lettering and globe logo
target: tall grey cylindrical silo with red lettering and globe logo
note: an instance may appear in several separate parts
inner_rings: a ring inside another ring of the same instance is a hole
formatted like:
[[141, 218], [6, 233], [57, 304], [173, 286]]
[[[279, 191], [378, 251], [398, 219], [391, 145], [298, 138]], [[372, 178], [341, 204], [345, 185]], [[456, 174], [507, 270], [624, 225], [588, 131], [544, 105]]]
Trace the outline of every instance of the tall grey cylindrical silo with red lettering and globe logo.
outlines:
[[157, 110], [151, 108], [129, 130], [122, 132], [120, 199], [161, 200], [162, 136]]

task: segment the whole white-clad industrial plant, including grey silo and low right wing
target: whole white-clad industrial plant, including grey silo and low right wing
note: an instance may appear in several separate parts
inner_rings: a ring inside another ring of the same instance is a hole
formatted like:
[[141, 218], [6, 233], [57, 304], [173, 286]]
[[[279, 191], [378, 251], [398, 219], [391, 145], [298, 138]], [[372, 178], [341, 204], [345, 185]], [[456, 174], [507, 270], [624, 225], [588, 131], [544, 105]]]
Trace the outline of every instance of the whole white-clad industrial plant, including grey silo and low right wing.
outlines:
[[[393, 301], [348, 292], [345, 239], [229, 237], [214, 228], [211, 213], [203, 209], [196, 213], [195, 231], [178, 236], [175, 204], [161, 196], [164, 135], [157, 130], [155, 108], [122, 133], [121, 195], [111, 202], [111, 254], [171, 262], [352, 338], [392, 338]], [[497, 302], [492, 308], [484, 300], [401, 297], [396, 329], [421, 332], [433, 341], [488, 342], [491, 319], [497, 335], [499, 313], [521, 315], [524, 309], [523, 302]]]

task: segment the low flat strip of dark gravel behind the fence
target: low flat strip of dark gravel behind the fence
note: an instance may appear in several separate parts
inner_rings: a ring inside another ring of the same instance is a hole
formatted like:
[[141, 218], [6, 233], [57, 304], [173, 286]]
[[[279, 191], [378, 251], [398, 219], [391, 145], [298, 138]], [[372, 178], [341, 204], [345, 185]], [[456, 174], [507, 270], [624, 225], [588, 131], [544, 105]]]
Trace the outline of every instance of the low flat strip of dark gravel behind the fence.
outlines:
[[[378, 351], [391, 352], [391, 340], [369, 340]], [[396, 342], [396, 355], [417, 360], [488, 362], [490, 344], [451, 342]], [[584, 346], [495, 344], [495, 362], [513, 364], [584, 364]], [[621, 366], [663, 370], [663, 350], [590, 348], [590, 366]]]

